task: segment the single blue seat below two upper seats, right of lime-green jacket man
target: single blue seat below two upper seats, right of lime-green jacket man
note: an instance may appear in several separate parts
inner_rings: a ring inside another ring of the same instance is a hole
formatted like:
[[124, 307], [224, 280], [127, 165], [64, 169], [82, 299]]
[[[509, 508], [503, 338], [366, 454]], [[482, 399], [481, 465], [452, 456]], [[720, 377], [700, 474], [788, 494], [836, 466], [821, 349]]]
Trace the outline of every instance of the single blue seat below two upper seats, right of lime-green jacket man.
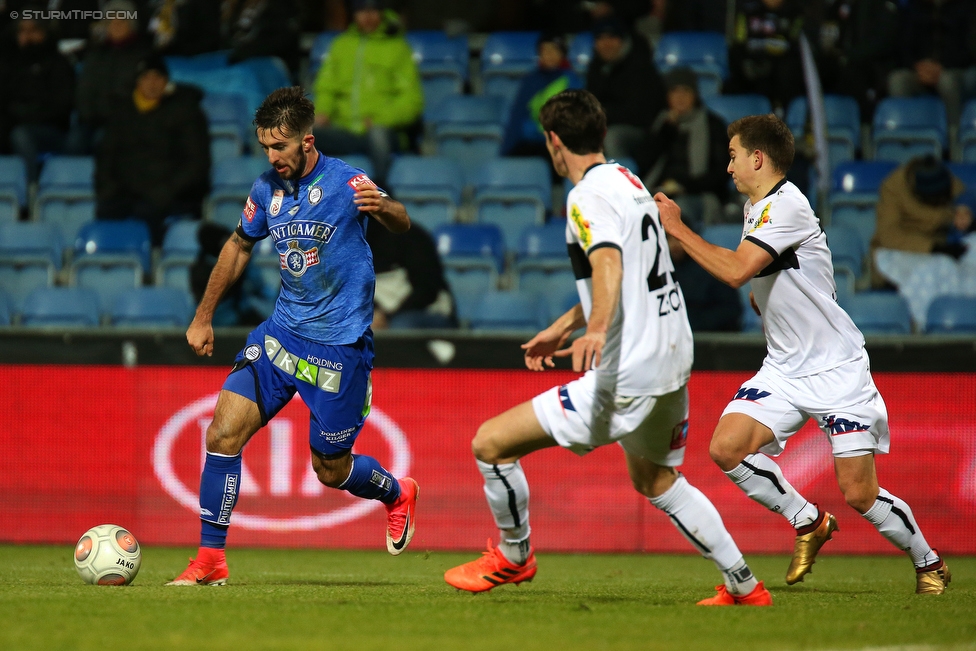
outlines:
[[504, 119], [505, 100], [501, 97], [448, 97], [431, 115], [437, 151], [473, 170], [498, 156]]

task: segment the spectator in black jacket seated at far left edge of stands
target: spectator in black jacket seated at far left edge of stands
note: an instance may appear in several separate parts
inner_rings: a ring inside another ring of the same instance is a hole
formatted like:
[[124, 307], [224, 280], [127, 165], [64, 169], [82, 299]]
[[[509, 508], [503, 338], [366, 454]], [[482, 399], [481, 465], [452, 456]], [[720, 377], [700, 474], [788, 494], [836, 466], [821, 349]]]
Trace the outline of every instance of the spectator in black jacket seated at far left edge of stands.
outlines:
[[24, 159], [30, 181], [38, 156], [64, 147], [73, 104], [74, 69], [58, 52], [51, 22], [19, 20], [17, 49], [0, 59], [0, 140]]

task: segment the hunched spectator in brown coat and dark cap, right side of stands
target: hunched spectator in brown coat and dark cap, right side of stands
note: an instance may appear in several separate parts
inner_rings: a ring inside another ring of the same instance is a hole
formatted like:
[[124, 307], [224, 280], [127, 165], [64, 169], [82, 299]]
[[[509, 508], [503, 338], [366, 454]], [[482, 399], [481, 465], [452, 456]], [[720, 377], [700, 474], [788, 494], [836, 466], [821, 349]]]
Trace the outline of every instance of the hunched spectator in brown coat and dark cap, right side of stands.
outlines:
[[878, 220], [871, 239], [874, 287], [887, 285], [877, 268], [878, 249], [940, 253], [955, 259], [966, 252], [964, 244], [948, 238], [956, 216], [954, 199], [964, 188], [945, 163], [932, 155], [913, 158], [884, 180], [878, 191]]

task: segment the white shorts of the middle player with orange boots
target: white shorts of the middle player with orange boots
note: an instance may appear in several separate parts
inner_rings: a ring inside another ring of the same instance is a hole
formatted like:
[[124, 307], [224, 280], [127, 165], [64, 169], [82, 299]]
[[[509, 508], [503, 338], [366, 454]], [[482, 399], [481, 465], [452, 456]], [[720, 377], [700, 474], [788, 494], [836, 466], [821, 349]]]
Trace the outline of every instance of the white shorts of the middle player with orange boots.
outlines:
[[590, 371], [532, 399], [542, 428], [559, 445], [583, 456], [609, 443], [660, 466], [684, 462], [688, 387], [663, 396], [624, 398], [600, 389]]

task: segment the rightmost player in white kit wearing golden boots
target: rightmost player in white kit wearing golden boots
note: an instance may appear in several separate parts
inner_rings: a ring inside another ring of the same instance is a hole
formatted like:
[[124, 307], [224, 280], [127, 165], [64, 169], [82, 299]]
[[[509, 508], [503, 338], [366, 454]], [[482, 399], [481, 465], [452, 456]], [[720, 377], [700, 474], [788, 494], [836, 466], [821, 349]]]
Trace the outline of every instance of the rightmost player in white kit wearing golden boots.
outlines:
[[838, 305], [827, 238], [810, 203], [786, 170], [793, 136], [772, 115], [729, 126], [728, 171], [745, 205], [735, 251], [709, 244], [681, 222], [681, 210], [655, 195], [661, 221], [685, 251], [719, 280], [741, 287], [763, 319], [768, 354], [739, 387], [712, 436], [710, 453], [725, 474], [796, 529], [789, 584], [810, 572], [817, 552], [838, 530], [836, 518], [803, 498], [767, 455], [813, 418], [830, 442], [847, 503], [916, 569], [916, 592], [941, 594], [951, 578], [926, 542], [911, 508], [878, 485], [874, 455], [889, 448], [888, 413], [871, 378], [864, 338]]

